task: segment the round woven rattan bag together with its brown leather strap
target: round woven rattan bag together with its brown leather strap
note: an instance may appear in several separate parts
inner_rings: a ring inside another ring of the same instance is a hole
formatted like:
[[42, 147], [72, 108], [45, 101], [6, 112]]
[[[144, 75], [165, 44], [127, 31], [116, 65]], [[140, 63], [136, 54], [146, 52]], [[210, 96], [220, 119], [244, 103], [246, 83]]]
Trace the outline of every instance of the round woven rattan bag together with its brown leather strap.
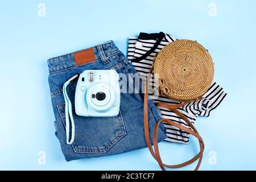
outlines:
[[[192, 40], [177, 40], [164, 47], [154, 60], [154, 65], [150, 69], [150, 73], [154, 70], [155, 82], [159, 85], [161, 94], [166, 95], [172, 100], [185, 101], [181, 104], [170, 105], [159, 102], [159, 107], [172, 110], [177, 116], [183, 119], [189, 127], [171, 121], [170, 119], [160, 119], [154, 129], [154, 150], [150, 139], [150, 132], [148, 129], [148, 81], [146, 81], [145, 94], [144, 94], [144, 134], [147, 142], [148, 149], [152, 156], [158, 162], [162, 170], [165, 167], [179, 168], [187, 166], [198, 160], [195, 170], [199, 169], [201, 160], [203, 159], [204, 142], [200, 137], [195, 126], [189, 121], [184, 114], [179, 111], [179, 107], [185, 106], [192, 101], [199, 101], [203, 94], [207, 92], [208, 88], [213, 82], [214, 64], [212, 57], [209, 55], [207, 49], [201, 44]], [[196, 137], [199, 140], [200, 152], [191, 160], [187, 162], [167, 165], [162, 162], [158, 149], [158, 127], [160, 123], [165, 122], [172, 125], [177, 129], [185, 131]]]

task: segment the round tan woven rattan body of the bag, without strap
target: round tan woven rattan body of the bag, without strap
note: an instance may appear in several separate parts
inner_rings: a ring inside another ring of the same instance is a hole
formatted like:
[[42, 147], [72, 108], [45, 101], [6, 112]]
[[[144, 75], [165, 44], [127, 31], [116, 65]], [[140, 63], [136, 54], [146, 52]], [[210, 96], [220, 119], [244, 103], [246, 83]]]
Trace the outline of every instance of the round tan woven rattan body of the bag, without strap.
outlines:
[[203, 96], [212, 84], [214, 63], [201, 44], [177, 40], [156, 56], [154, 75], [162, 94], [177, 101], [192, 101]]

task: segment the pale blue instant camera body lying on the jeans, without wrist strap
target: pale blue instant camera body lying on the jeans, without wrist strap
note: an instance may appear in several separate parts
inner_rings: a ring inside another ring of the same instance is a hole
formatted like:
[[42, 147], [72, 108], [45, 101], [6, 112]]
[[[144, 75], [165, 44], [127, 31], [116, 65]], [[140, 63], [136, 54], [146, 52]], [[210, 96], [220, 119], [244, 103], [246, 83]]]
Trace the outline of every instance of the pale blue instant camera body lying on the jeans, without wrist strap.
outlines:
[[112, 117], [119, 113], [118, 73], [110, 70], [86, 70], [79, 76], [75, 110], [80, 116]]

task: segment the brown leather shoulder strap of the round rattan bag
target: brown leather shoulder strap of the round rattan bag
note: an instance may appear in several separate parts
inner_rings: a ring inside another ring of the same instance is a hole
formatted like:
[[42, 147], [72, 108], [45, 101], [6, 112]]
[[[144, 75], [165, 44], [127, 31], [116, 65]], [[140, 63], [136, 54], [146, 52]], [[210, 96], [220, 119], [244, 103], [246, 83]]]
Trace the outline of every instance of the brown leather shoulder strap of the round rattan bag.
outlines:
[[[153, 67], [150, 69], [150, 73], [152, 73], [152, 69]], [[145, 93], [144, 93], [144, 134], [145, 134], [145, 138], [146, 138], [146, 143], [148, 146], [148, 149], [151, 152], [151, 155], [155, 158], [155, 160], [158, 162], [159, 166], [161, 167], [162, 170], [166, 170], [164, 167], [168, 167], [168, 168], [179, 168], [179, 167], [184, 167], [187, 166], [188, 164], [191, 164], [193, 162], [195, 162], [197, 159], [199, 159], [199, 162], [197, 163], [197, 166], [195, 168], [195, 170], [197, 170], [201, 164], [201, 160], [203, 158], [203, 151], [204, 151], [204, 142], [203, 139], [200, 137], [200, 135], [198, 134], [196, 128], [193, 126], [193, 124], [189, 121], [189, 119], [187, 117], [185, 117], [182, 113], [180, 113], [180, 111], [177, 110], [177, 108], [184, 106], [186, 104], [188, 104], [189, 102], [184, 102], [182, 104], [178, 104], [178, 105], [168, 105], [168, 104], [164, 104], [164, 103], [159, 103], [158, 106], [160, 107], [165, 107], [167, 109], [171, 109], [173, 110], [177, 115], [179, 115], [181, 118], [184, 119], [185, 122], [188, 123], [188, 125], [191, 127], [191, 129], [189, 129], [188, 127], [185, 127], [183, 125], [180, 125], [179, 123], [176, 123], [174, 121], [171, 121], [169, 119], [160, 119], [157, 123], [156, 126], [154, 128], [154, 150], [151, 146], [151, 140], [150, 140], [150, 134], [149, 134], [149, 128], [148, 128], [148, 113], [147, 113], [147, 101], [148, 101], [148, 78], [146, 81], [146, 88], [145, 88]], [[159, 148], [158, 148], [158, 127], [160, 125], [161, 122], [167, 122], [172, 126], [175, 126], [181, 130], [186, 131], [189, 134], [194, 135], [198, 140], [199, 140], [199, 145], [200, 145], [200, 152], [199, 154], [197, 154], [194, 158], [188, 160], [187, 162], [181, 163], [181, 164], [177, 164], [177, 165], [167, 165], [164, 164], [162, 162], [162, 159], [160, 158], [160, 154], [159, 154]]]

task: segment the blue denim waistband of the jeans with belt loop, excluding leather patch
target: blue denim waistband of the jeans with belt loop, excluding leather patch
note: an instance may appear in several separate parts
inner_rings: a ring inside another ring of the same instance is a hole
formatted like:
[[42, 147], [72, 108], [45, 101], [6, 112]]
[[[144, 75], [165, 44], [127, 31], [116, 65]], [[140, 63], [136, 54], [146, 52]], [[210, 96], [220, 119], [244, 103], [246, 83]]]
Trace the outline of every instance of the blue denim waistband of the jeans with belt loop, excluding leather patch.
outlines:
[[[95, 61], [102, 60], [103, 63], [105, 64], [109, 62], [108, 61], [109, 56], [112, 56], [118, 52], [118, 48], [117, 46], [115, 46], [113, 40], [109, 40], [106, 43], [99, 44], [92, 48], [94, 52], [94, 57], [96, 59]], [[84, 50], [81, 50], [81, 51], [84, 51]], [[77, 51], [77, 52], [80, 52], [80, 51]], [[57, 56], [57, 57], [48, 59], [47, 62], [48, 62], [49, 73], [59, 72], [65, 69], [78, 67], [78, 65], [76, 65], [75, 63], [75, 59], [73, 56], [74, 53], [76, 52], [72, 52], [72, 53], [68, 53], [67, 55]]]

